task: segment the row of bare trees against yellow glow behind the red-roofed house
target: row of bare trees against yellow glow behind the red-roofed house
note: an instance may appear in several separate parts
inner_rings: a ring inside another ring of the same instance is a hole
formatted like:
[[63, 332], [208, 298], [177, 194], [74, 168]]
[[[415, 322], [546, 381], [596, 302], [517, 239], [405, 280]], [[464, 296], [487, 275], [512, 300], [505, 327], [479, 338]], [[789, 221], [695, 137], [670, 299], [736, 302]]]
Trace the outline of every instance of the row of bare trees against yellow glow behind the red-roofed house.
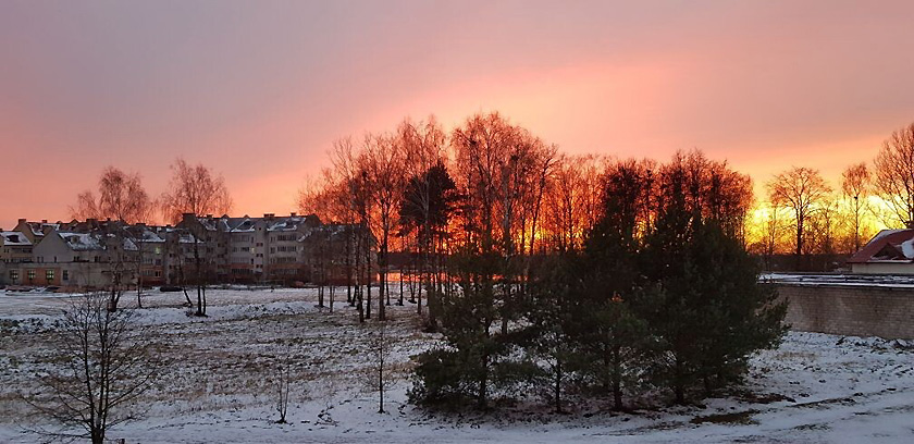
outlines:
[[817, 170], [794, 166], [767, 190], [751, 224], [753, 252], [853, 254], [880, 226], [914, 224], [914, 124], [893, 132], [872, 164], [848, 166], [835, 188]]

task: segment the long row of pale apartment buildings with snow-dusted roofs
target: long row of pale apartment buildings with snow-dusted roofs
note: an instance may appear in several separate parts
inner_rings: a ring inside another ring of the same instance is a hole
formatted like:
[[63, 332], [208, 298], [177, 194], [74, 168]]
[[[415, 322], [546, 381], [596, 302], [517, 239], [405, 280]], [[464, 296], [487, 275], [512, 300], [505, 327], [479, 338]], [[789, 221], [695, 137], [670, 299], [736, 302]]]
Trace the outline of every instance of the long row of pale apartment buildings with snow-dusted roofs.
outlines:
[[102, 287], [115, 273], [121, 282], [147, 286], [198, 280], [343, 282], [355, 262], [355, 246], [347, 240], [356, 231], [354, 225], [325, 225], [314, 214], [296, 213], [260, 218], [188, 213], [175, 226], [20, 220], [16, 230], [0, 236], [0, 284]]

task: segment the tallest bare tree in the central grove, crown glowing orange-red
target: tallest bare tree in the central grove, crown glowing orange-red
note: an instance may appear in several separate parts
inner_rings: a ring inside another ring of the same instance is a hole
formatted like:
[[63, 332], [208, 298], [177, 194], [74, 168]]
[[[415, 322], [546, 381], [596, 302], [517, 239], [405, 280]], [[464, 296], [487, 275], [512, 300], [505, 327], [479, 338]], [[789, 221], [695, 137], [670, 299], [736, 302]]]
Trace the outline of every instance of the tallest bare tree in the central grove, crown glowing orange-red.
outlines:
[[[523, 292], [535, 245], [545, 181], [556, 148], [498, 113], [478, 114], [454, 130], [456, 177], [466, 190], [462, 208], [468, 244], [483, 255], [502, 257], [497, 271], [502, 311], [512, 312]], [[486, 284], [489, 285], [489, 283]], [[507, 333], [510, 317], [502, 318]]]

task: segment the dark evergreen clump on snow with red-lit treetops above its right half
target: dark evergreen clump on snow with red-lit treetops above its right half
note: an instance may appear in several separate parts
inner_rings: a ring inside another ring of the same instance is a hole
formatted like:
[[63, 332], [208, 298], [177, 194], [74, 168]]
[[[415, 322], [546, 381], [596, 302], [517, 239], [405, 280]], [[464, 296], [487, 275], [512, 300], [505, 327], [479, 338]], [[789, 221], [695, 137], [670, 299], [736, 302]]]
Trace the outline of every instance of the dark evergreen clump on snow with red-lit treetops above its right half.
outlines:
[[561, 411], [573, 386], [617, 409], [651, 387], [685, 403], [779, 343], [786, 306], [741, 240], [745, 176], [690, 152], [610, 163], [600, 187], [580, 247], [512, 256], [517, 233], [484, 219], [465, 227], [448, 263], [455, 288], [441, 295], [446, 346], [420, 355], [415, 400], [486, 407], [532, 387]]

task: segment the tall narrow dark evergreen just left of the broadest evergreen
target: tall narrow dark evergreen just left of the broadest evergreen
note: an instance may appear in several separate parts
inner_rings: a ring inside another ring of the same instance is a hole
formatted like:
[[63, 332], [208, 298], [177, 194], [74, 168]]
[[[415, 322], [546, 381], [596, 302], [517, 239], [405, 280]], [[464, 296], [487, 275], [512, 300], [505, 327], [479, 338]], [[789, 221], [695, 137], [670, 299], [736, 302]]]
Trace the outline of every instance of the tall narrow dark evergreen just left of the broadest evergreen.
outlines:
[[638, 379], [652, 344], [646, 323], [632, 310], [643, 293], [638, 230], [649, 189], [646, 170], [633, 162], [608, 172], [603, 214], [578, 266], [583, 273], [572, 336], [582, 351], [581, 370], [612, 393], [617, 410], [623, 408], [623, 385]]

